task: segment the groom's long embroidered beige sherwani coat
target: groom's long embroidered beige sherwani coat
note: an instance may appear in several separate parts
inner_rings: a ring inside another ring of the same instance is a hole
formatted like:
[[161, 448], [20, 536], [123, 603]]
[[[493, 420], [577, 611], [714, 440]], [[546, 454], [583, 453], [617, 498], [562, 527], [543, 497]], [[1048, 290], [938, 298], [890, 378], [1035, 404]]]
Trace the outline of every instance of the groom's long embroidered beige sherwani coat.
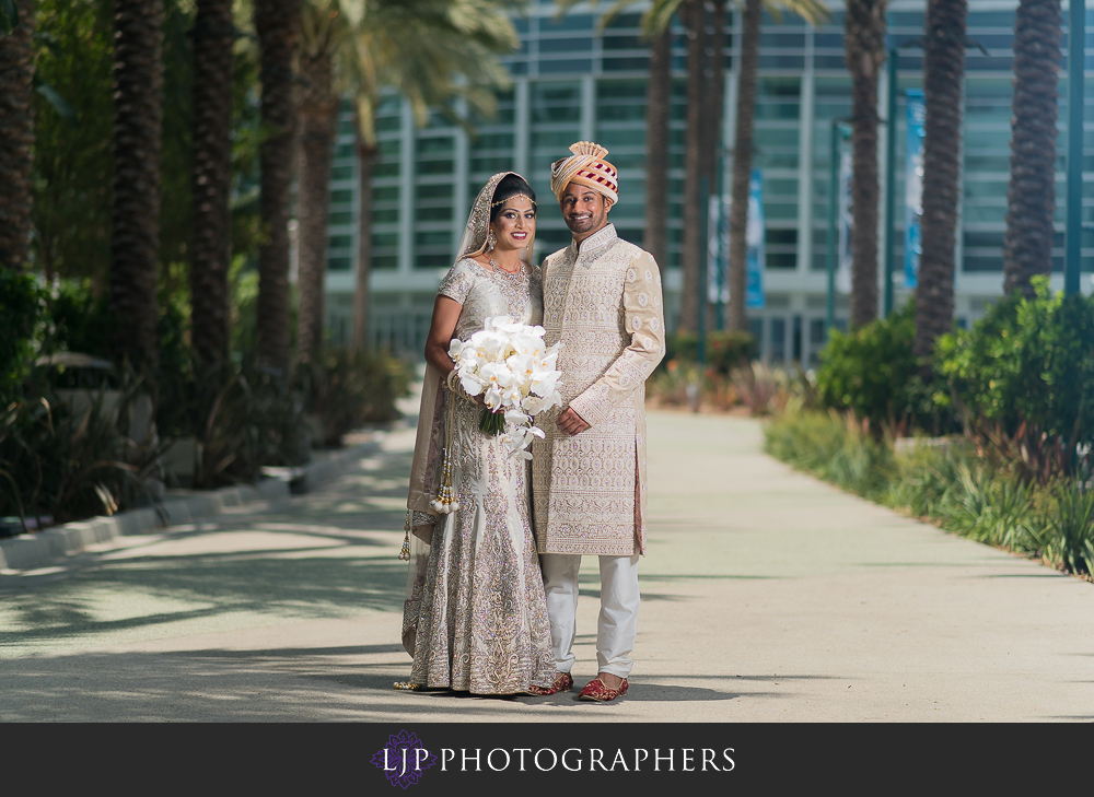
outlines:
[[[608, 224], [544, 261], [544, 341], [562, 342], [562, 407], [537, 417], [540, 553], [645, 553], [645, 379], [665, 354], [661, 272]], [[556, 425], [571, 407], [592, 429]]]

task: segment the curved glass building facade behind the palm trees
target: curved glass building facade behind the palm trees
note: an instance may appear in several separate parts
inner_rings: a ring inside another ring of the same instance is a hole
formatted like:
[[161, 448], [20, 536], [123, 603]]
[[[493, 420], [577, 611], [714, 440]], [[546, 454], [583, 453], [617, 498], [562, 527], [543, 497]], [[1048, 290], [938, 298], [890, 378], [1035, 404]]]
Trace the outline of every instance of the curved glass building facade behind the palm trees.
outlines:
[[[848, 117], [851, 109], [842, 4], [833, 2], [829, 7], [830, 20], [818, 27], [794, 16], [778, 21], [765, 17], [760, 40], [754, 164], [764, 177], [766, 306], [750, 310], [749, 319], [763, 358], [773, 363], [814, 364], [825, 340], [831, 121]], [[549, 165], [568, 154], [567, 148], [574, 141], [594, 140], [608, 148], [608, 160], [618, 167], [620, 181], [620, 201], [609, 218], [624, 238], [642, 244], [649, 49], [639, 35], [640, 7], [635, 8], [601, 31], [598, 12], [585, 5], [558, 19], [552, 2], [531, 3], [526, 15], [514, 19], [521, 47], [505, 59], [513, 85], [499, 95], [497, 115], [477, 120], [474, 133], [440, 115], [424, 128], [416, 128], [406, 103], [395, 96], [385, 102], [380, 109], [381, 156], [374, 180], [370, 336], [375, 343], [420, 353], [437, 286], [452, 263], [470, 201], [496, 172], [520, 172], [539, 197], [536, 260], [567, 245], [569, 232], [549, 190]], [[968, 36], [988, 55], [970, 47], [966, 58], [955, 276], [955, 315], [961, 325], [980, 316], [1002, 290], [1014, 8], [1014, 2], [969, 1]], [[922, 85], [922, 50], [901, 45], [922, 36], [924, 10], [926, 0], [892, 0], [888, 10], [889, 40], [900, 47], [895, 125], [896, 306], [910, 295], [904, 288], [905, 92]], [[1067, 13], [1063, 19], [1066, 24]], [[1087, 26], [1092, 23], [1094, 12], [1087, 12]], [[723, 145], [732, 150], [735, 63], [741, 46], [732, 5], [726, 32]], [[1066, 32], [1063, 42], [1066, 47]], [[1094, 52], [1092, 45], [1094, 35], [1087, 35], [1089, 54]], [[671, 328], [680, 290], [686, 112], [685, 36], [678, 27], [674, 30], [673, 59], [668, 255], [662, 263]], [[1094, 70], [1091, 55], [1086, 70]], [[1059, 91], [1056, 272], [1062, 269], [1063, 256], [1066, 69], [1061, 69]], [[878, 114], [884, 118], [884, 79], [880, 93]], [[889, 127], [883, 125], [880, 133], [878, 152], [884, 157]], [[1094, 120], [1087, 121], [1084, 130], [1084, 162], [1094, 165]], [[731, 168], [726, 159], [726, 186]], [[880, 171], [884, 195], [884, 164]], [[348, 339], [352, 324], [356, 175], [353, 131], [347, 115], [340, 126], [330, 185], [326, 285], [329, 333], [335, 343]], [[1083, 204], [1084, 222], [1094, 222], [1094, 180], [1084, 184]], [[1085, 232], [1085, 270], [1091, 268], [1094, 232]], [[1054, 279], [1059, 280], [1059, 274]], [[1083, 281], [1084, 291], [1089, 291], [1091, 282], [1085, 274]], [[847, 296], [838, 294], [837, 324], [846, 324], [846, 317]]]

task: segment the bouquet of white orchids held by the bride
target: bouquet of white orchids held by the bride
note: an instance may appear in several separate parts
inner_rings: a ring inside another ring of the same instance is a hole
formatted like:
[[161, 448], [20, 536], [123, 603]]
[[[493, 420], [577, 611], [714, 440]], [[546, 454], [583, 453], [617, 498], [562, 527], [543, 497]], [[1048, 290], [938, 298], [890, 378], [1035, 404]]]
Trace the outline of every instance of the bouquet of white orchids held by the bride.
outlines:
[[479, 429], [502, 435], [510, 454], [532, 459], [528, 446], [544, 432], [532, 423], [538, 412], [562, 403], [556, 371], [561, 343], [544, 344], [544, 328], [516, 324], [509, 316], [486, 319], [470, 340], [453, 340], [449, 356], [469, 396], [482, 396]]

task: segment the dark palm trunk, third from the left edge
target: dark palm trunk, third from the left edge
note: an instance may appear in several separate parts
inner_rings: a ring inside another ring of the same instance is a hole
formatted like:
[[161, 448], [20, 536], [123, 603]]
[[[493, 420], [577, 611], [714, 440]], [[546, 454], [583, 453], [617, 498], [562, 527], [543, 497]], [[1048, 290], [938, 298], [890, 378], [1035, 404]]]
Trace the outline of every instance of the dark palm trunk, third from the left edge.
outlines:
[[232, 258], [232, 0], [198, 0], [194, 24], [190, 340], [207, 364], [228, 359]]

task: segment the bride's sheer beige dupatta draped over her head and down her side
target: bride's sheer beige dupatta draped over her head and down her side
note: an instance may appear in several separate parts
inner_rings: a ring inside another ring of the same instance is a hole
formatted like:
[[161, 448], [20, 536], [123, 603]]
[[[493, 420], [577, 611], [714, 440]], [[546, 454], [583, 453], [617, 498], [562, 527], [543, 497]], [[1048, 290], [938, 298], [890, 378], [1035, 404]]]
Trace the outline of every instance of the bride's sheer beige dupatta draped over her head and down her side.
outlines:
[[[472, 204], [467, 226], [459, 242], [456, 261], [476, 257], [486, 251], [487, 234], [490, 232], [490, 204], [498, 184], [516, 172], [499, 172], [482, 186]], [[520, 177], [520, 175], [516, 175]], [[522, 178], [523, 179], [523, 178]], [[532, 262], [535, 235], [528, 238], [521, 251], [521, 259]], [[407, 529], [410, 531], [410, 566], [407, 573], [406, 601], [403, 606], [403, 647], [414, 656], [418, 632], [421, 593], [426, 587], [426, 569], [429, 564], [433, 526], [438, 516], [430, 507], [441, 487], [441, 459], [444, 456], [444, 386], [441, 374], [426, 363], [426, 378], [421, 389], [421, 406], [418, 410], [418, 436], [415, 439], [414, 460], [410, 464], [410, 492], [407, 496]], [[446, 515], [445, 520], [454, 520]]]

